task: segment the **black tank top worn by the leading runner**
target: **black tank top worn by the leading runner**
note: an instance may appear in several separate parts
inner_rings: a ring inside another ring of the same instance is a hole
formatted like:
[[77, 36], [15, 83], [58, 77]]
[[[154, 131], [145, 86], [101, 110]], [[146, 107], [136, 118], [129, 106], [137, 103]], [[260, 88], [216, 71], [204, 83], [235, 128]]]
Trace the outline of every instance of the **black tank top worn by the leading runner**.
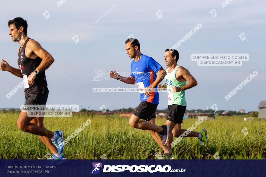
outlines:
[[[37, 57], [35, 59], [32, 58], [28, 58], [25, 55], [25, 49], [26, 49], [26, 45], [28, 43], [28, 41], [30, 40], [30, 38], [28, 37], [28, 39], [25, 41], [24, 45], [19, 48], [19, 52], [18, 52], [18, 66], [21, 70], [22, 76], [23, 75], [27, 75], [27, 77], [33, 72], [35, 71], [35, 69], [40, 65], [42, 59], [40, 57]], [[21, 51], [20, 51], [21, 49]], [[48, 92], [48, 88], [47, 88], [47, 81], [46, 81], [46, 77], [45, 77], [45, 71], [38, 73], [36, 75], [36, 78], [34, 80], [34, 84], [29, 84], [29, 88], [26, 88], [25, 90], [25, 94], [27, 93], [44, 93], [44, 92]]]

